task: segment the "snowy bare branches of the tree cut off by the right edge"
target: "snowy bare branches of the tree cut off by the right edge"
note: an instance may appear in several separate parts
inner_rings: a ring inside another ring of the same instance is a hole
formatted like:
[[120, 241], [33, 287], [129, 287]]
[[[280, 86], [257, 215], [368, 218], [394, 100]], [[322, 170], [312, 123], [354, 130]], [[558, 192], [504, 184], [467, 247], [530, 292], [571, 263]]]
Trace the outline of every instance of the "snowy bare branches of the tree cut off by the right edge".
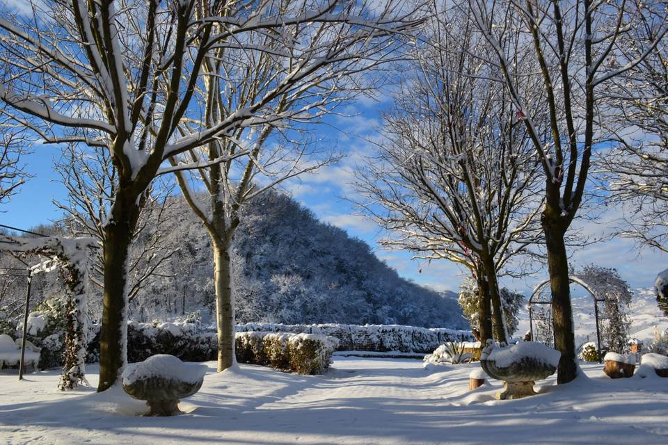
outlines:
[[[660, 31], [657, 17], [625, 36], [626, 52], [642, 51]], [[628, 205], [619, 234], [668, 253], [668, 46], [620, 76], [607, 92], [614, 147], [597, 156], [601, 188], [613, 204]]]

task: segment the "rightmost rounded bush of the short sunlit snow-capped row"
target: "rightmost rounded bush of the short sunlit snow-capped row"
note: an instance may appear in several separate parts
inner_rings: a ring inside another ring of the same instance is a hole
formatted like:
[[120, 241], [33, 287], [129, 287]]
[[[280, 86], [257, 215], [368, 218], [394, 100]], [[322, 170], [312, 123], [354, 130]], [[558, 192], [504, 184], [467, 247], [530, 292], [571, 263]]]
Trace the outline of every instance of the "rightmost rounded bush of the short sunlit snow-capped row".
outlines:
[[322, 334], [295, 334], [287, 339], [290, 369], [301, 375], [323, 373], [331, 363], [337, 339]]

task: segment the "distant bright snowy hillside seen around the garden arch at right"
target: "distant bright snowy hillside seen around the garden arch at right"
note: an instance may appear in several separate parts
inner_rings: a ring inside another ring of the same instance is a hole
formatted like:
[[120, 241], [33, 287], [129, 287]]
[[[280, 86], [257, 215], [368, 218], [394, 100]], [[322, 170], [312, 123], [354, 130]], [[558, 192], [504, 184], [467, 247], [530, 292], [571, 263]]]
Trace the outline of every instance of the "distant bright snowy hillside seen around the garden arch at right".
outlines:
[[[580, 289], [573, 286], [573, 323], [578, 346], [585, 341], [596, 341], [596, 318], [594, 318], [594, 302], [588, 295], [583, 295]], [[628, 309], [631, 320], [630, 337], [644, 340], [646, 345], [651, 343], [654, 326], [660, 331], [668, 329], [668, 318], [662, 314], [656, 304], [653, 289], [636, 289], [633, 291], [633, 300]], [[523, 337], [529, 330], [529, 314], [523, 308], [519, 314], [516, 337]]]

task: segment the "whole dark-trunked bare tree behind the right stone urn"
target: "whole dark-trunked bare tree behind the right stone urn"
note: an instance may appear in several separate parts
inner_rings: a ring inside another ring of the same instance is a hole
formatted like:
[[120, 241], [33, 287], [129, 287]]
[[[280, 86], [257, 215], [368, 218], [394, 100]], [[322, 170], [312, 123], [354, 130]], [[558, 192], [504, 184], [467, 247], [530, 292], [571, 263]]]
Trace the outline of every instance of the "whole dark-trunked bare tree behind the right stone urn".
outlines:
[[[599, 113], [603, 90], [655, 50], [666, 33], [665, 12], [637, 0], [471, 0], [472, 19], [491, 45], [497, 67], [518, 120], [525, 124], [545, 174], [545, 208], [541, 216], [548, 252], [555, 347], [562, 353], [559, 383], [573, 380], [575, 337], [568, 254], [564, 236], [582, 204], [594, 148], [610, 136]], [[653, 40], [639, 42], [637, 56], [620, 49], [621, 36], [646, 15], [662, 17]], [[509, 35], [512, 36], [509, 38]], [[509, 45], [507, 42], [516, 42]], [[514, 57], [529, 47], [539, 65], [543, 88], [523, 90], [531, 73], [516, 72]], [[488, 54], [480, 54], [489, 58]], [[546, 107], [531, 101], [542, 97]], [[547, 112], [547, 126], [541, 125]]]

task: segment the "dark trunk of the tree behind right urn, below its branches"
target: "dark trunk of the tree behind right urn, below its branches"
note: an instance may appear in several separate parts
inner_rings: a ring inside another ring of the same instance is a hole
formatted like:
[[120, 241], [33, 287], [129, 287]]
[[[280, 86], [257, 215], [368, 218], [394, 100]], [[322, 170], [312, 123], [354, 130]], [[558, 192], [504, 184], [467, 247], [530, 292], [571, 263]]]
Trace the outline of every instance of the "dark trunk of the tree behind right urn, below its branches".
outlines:
[[[556, 227], [555, 227], [556, 226]], [[568, 383], [575, 378], [575, 335], [571, 307], [571, 282], [568, 280], [568, 255], [564, 230], [552, 223], [543, 213], [543, 231], [548, 248], [548, 270], [552, 291], [552, 325], [555, 348], [562, 353], [557, 368], [557, 383]]]

